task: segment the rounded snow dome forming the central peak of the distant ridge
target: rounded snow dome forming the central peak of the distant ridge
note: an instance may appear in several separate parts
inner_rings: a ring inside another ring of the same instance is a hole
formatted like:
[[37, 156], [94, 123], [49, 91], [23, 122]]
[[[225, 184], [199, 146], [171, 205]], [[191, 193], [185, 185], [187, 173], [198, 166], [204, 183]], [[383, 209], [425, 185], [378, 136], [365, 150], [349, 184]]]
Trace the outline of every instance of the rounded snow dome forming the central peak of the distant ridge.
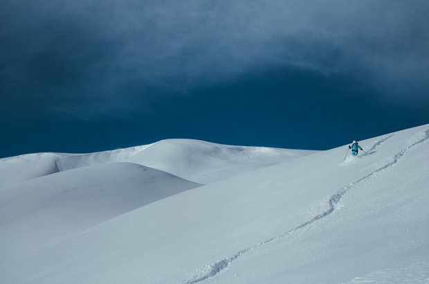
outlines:
[[314, 152], [168, 139], [136, 153], [129, 157], [129, 161], [171, 172], [201, 184], [210, 184]]

